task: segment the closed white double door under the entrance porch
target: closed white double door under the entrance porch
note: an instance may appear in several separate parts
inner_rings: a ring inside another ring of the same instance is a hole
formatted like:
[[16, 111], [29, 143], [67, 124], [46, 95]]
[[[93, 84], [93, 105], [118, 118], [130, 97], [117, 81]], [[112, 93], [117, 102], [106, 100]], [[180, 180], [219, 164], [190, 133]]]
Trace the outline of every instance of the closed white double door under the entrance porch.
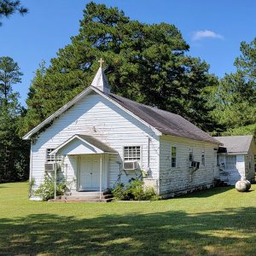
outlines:
[[80, 190], [100, 189], [101, 159], [97, 154], [85, 155], [80, 160]]

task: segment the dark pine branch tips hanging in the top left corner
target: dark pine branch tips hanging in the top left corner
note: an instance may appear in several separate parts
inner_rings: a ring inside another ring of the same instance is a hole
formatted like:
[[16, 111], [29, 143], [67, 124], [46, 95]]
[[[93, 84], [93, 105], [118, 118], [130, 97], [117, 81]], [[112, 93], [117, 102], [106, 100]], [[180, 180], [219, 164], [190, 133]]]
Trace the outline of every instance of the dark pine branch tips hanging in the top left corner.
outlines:
[[[28, 9], [23, 7], [19, 0], [0, 0], [0, 19], [3, 17], [9, 18], [10, 15], [14, 15], [18, 12], [20, 15], [25, 15]], [[0, 22], [0, 26], [2, 23]]]

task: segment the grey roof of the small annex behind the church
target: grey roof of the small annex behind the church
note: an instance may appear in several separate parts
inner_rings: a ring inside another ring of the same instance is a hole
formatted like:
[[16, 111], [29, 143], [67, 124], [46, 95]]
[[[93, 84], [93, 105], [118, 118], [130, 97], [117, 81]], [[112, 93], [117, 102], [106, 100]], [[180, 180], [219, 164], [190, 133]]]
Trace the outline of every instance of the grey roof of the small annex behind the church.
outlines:
[[223, 147], [227, 148], [227, 154], [247, 154], [253, 141], [253, 136], [227, 136], [215, 137]]

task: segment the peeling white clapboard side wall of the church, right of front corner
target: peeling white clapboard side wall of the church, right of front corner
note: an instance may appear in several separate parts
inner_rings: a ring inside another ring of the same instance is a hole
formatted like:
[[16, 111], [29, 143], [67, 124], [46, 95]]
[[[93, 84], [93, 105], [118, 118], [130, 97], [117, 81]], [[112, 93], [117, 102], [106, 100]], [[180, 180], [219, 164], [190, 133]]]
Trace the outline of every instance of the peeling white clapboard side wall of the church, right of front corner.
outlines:
[[[177, 167], [171, 166], [171, 147], [177, 148]], [[160, 195], [212, 184], [218, 177], [217, 145], [193, 141], [181, 137], [160, 137]], [[205, 152], [205, 166], [191, 173], [189, 150], [193, 150], [194, 160], [201, 163], [201, 153]]]

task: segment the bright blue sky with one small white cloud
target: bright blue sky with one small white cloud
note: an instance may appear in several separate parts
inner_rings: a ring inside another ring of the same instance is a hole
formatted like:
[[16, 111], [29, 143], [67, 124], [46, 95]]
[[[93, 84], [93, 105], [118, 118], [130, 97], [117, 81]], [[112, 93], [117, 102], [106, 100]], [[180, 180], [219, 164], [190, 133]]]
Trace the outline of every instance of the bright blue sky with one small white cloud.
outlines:
[[[58, 49], [78, 34], [84, 0], [21, 0], [29, 14], [3, 19], [0, 27], [0, 56], [9, 55], [24, 76], [14, 89], [25, 105], [29, 85], [41, 61], [55, 57]], [[190, 45], [189, 55], [210, 64], [210, 72], [222, 77], [234, 71], [241, 41], [256, 37], [254, 0], [102, 0], [125, 11], [133, 20], [172, 23]]]

